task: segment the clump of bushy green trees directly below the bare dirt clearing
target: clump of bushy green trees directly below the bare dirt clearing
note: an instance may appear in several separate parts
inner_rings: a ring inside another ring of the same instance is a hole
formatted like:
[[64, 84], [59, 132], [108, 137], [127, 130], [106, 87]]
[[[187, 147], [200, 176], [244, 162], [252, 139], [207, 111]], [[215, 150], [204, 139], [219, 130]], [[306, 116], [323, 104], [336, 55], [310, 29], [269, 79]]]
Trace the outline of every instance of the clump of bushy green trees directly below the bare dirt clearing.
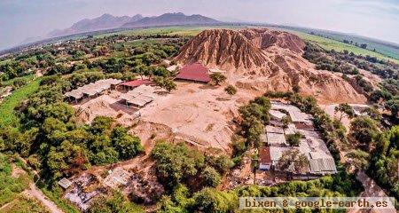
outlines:
[[224, 154], [209, 150], [203, 154], [190, 150], [184, 144], [176, 146], [160, 141], [153, 148], [156, 174], [160, 181], [173, 189], [176, 185], [187, 184], [191, 189], [220, 184], [223, 174], [234, 165]]

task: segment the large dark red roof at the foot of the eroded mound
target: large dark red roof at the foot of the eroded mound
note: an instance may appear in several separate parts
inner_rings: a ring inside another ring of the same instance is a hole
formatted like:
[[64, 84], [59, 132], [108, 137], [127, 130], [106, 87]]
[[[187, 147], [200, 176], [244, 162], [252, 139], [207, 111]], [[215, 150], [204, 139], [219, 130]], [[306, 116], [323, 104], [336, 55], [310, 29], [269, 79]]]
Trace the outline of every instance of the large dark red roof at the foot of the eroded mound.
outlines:
[[211, 80], [207, 67], [202, 66], [200, 63], [183, 67], [180, 69], [180, 73], [176, 76], [176, 78], [202, 83], [208, 83]]

